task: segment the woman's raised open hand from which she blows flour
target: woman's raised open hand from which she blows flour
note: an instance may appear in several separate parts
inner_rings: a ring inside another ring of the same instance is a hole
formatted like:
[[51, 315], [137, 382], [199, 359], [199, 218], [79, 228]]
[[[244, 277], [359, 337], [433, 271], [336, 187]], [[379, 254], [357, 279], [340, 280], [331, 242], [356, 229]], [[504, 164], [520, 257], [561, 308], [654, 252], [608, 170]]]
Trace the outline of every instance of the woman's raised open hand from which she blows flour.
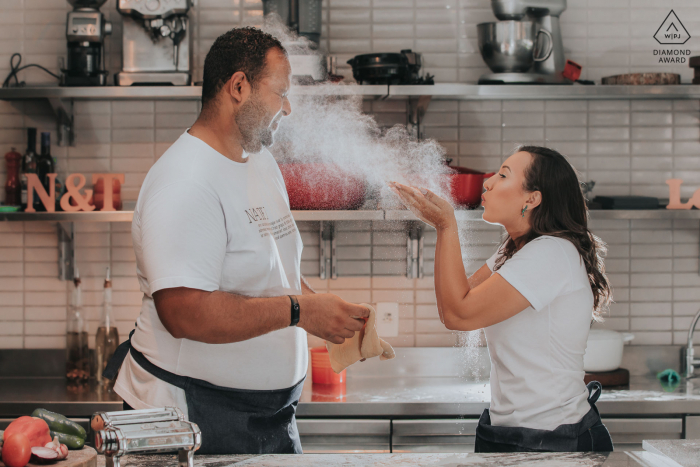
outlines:
[[436, 229], [445, 229], [456, 225], [457, 220], [452, 205], [432, 191], [396, 182], [389, 182], [388, 185], [401, 198], [406, 207], [426, 224]]

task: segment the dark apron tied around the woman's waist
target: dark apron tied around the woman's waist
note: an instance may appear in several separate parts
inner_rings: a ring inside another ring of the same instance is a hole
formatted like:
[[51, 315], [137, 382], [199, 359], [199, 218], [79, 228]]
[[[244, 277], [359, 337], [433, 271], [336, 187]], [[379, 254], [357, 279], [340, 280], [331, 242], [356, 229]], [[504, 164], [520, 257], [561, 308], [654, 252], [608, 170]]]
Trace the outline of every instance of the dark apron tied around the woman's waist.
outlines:
[[476, 428], [475, 452], [581, 452], [613, 450], [612, 438], [600, 419], [595, 406], [603, 386], [598, 381], [588, 383], [588, 403], [591, 410], [578, 423], [559, 425], [554, 430], [537, 430], [491, 425], [488, 409], [479, 418]]

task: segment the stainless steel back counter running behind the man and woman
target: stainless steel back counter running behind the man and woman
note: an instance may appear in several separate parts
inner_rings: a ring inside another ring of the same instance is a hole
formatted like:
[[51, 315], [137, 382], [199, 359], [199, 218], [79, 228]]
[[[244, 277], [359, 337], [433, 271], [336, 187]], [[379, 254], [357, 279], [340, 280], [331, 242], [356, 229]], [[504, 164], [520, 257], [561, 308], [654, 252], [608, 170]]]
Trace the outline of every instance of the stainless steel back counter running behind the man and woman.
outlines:
[[[490, 387], [454, 377], [348, 378], [345, 386], [322, 386], [307, 379], [297, 415], [303, 417], [473, 416], [488, 408]], [[94, 386], [69, 388], [62, 378], [0, 378], [0, 414], [19, 416], [44, 407], [73, 417], [121, 410], [121, 398]], [[653, 377], [632, 377], [630, 386], [604, 390], [603, 415], [700, 414], [700, 379], [683, 380], [665, 391]]]

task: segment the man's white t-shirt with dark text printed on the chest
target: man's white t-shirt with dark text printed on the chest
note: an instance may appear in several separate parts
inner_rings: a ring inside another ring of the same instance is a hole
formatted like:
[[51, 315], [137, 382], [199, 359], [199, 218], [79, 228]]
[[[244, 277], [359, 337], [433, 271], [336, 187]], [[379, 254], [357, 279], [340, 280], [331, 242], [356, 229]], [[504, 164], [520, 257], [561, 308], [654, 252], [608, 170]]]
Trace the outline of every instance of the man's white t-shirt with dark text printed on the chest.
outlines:
[[[183, 133], [144, 180], [132, 238], [143, 302], [131, 342], [148, 360], [236, 389], [288, 388], [305, 376], [304, 330], [289, 327], [232, 344], [175, 339], [152, 298], [173, 287], [253, 297], [301, 294], [301, 236], [267, 150], [238, 163]], [[153, 377], [131, 356], [115, 391], [137, 409], [176, 405], [187, 413], [184, 391]]]

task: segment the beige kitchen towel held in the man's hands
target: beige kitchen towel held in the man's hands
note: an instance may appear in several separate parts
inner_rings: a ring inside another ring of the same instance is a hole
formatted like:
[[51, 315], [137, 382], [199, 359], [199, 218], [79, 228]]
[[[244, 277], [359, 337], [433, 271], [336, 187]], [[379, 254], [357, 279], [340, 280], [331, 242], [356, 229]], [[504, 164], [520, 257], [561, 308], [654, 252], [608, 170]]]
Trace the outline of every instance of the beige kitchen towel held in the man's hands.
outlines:
[[377, 334], [377, 312], [370, 305], [363, 303], [369, 309], [369, 318], [365, 327], [357, 331], [350, 339], [342, 344], [326, 342], [326, 348], [331, 358], [331, 368], [340, 373], [345, 368], [363, 358], [379, 356], [380, 360], [391, 360], [396, 356], [391, 344]]

